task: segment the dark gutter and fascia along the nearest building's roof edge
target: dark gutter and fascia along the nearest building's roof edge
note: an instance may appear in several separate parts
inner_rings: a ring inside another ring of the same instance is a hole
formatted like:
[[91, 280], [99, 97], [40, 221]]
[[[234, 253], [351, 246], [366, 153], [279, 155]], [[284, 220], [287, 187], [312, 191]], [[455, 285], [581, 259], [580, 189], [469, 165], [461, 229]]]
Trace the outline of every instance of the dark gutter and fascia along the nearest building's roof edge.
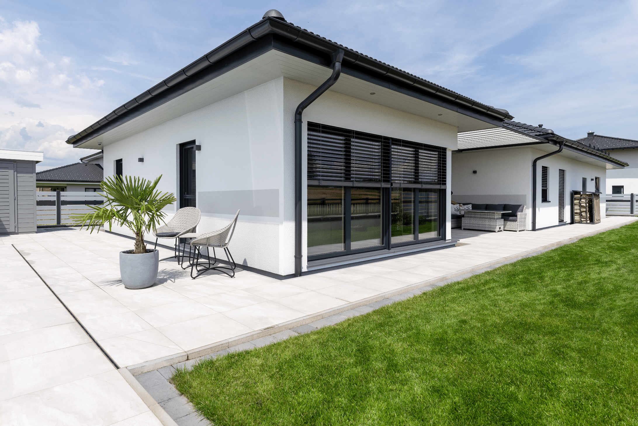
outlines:
[[[401, 84], [417, 87], [427, 94], [435, 94], [436, 96], [440, 96], [447, 101], [457, 103], [461, 107], [469, 108], [482, 114], [491, 115], [496, 119], [511, 120], [514, 118], [512, 117], [512, 115], [506, 114], [502, 110], [489, 107], [488, 105], [474, 101], [473, 99], [450, 91], [449, 89], [445, 89], [445, 87], [441, 87], [440, 85], [436, 85], [432, 82], [424, 80], [424, 78], [420, 78], [407, 73], [406, 71], [399, 70], [398, 68], [385, 64], [384, 62], [378, 61], [369, 56], [362, 55], [356, 50], [343, 47], [338, 43], [334, 43], [334, 41], [332, 40], [327, 40], [326, 38], [320, 37], [316, 34], [310, 33], [309, 31], [301, 29], [300, 27], [293, 26], [288, 22], [283, 22], [276, 18], [267, 17], [263, 18], [262, 20], [260, 20], [260, 22], [257, 22], [255, 25], [249, 27], [242, 33], [237, 34], [237, 36], [234, 36], [230, 40], [226, 41], [226, 43], [223, 43], [219, 47], [214, 48], [211, 52], [200, 57], [188, 66], [177, 71], [177, 73], [175, 73], [174, 75], [154, 85], [153, 87], [151, 87], [151, 89], [145, 91], [139, 96], [136, 96], [121, 107], [116, 108], [113, 112], [101, 118], [91, 126], [80, 131], [76, 135], [70, 136], [66, 140], [66, 143], [77, 144], [78, 142], [80, 142], [80, 140], [84, 139], [85, 136], [89, 135], [89, 133], [92, 133], [94, 130], [105, 126], [106, 124], [108, 124], [108, 122], [114, 121], [115, 119], [117, 119], [117, 117], [121, 117], [122, 115], [127, 114], [130, 110], [133, 110], [142, 103], [145, 103], [149, 99], [154, 98], [154, 96], [157, 96], [170, 87], [174, 87], [175, 85], [181, 83], [189, 77], [193, 77], [193, 75], [199, 73], [205, 68], [208, 68], [212, 64], [219, 62], [226, 56], [233, 54], [242, 47], [253, 43], [253, 41], [255, 40], [259, 40], [267, 34], [278, 34], [279, 36], [284, 36], [292, 41], [302, 43], [308, 47], [315, 48], [316, 50], [325, 52], [327, 54], [332, 54], [338, 48], [341, 48], [345, 50], [343, 60], [346, 62], [357, 64], [357, 66], [366, 68], [370, 71], [374, 71], [379, 75], [392, 78], [397, 82], [401, 82]], [[82, 140], [82, 142], [87, 142], [87, 140], [89, 139], [91, 138], [86, 138], [86, 140]]]

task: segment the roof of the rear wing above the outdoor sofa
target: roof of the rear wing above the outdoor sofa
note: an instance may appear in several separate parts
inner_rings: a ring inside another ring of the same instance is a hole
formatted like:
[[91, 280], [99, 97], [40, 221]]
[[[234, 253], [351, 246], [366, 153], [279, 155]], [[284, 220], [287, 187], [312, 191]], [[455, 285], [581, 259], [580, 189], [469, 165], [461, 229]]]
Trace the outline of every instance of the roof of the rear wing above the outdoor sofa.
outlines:
[[503, 128], [459, 133], [458, 152], [499, 147], [538, 145], [540, 143], [558, 145], [560, 142], [565, 143], [565, 148], [570, 151], [580, 152], [581, 154], [599, 159], [610, 165], [620, 167], [628, 166], [624, 161], [611, 157], [609, 152], [602, 149], [590, 147], [579, 141], [563, 138], [563, 136], [556, 135], [552, 129], [545, 129], [542, 126], [533, 126], [517, 121], [504, 121]]

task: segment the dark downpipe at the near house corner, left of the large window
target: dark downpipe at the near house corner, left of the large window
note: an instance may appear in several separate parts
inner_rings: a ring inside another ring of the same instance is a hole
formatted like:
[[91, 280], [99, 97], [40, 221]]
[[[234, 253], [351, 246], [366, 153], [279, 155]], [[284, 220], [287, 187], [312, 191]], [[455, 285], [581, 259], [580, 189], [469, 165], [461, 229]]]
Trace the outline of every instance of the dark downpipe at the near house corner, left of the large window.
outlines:
[[303, 219], [303, 206], [302, 206], [302, 172], [303, 172], [303, 144], [302, 144], [302, 115], [304, 110], [309, 107], [311, 103], [316, 101], [325, 91], [330, 89], [330, 86], [335, 84], [341, 75], [341, 62], [343, 61], [343, 49], [339, 49], [331, 55], [332, 59], [332, 75], [328, 80], [325, 80], [322, 85], [304, 99], [295, 110], [295, 277], [301, 276], [301, 258], [302, 253], [302, 219]]

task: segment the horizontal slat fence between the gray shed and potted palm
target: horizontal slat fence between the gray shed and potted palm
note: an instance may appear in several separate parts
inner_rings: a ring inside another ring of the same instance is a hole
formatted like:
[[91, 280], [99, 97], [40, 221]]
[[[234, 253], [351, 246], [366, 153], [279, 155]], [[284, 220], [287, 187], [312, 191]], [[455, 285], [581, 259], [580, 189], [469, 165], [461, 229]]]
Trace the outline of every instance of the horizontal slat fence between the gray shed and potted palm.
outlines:
[[36, 193], [38, 226], [73, 224], [71, 214], [91, 212], [88, 205], [100, 205], [104, 197], [99, 193], [45, 192]]

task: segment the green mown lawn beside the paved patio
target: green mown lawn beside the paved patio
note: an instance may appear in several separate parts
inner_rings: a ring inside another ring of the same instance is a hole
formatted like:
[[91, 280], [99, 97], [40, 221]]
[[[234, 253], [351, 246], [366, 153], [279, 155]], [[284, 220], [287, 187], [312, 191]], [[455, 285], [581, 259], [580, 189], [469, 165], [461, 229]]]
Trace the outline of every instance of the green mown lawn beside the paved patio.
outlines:
[[215, 425], [636, 425], [637, 235], [607, 231], [173, 381]]

